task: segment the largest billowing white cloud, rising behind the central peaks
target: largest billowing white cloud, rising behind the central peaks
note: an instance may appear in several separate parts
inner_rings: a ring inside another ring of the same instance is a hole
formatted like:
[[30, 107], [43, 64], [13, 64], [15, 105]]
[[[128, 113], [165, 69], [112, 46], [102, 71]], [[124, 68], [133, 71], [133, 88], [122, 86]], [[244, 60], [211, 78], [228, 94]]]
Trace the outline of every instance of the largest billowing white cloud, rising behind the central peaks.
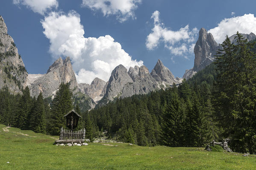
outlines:
[[119, 64], [127, 69], [143, 65], [142, 61], [132, 60], [110, 35], [85, 38], [80, 16], [75, 11], [52, 12], [41, 23], [50, 40], [49, 51], [53, 58], [70, 56], [78, 82], [90, 84], [95, 77], [108, 81]]

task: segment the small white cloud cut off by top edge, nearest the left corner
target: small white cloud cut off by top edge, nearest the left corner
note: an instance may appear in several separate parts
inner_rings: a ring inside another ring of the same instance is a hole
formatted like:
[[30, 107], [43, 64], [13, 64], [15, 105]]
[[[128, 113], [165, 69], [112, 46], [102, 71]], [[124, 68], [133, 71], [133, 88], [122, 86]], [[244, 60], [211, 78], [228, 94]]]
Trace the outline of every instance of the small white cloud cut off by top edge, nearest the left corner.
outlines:
[[57, 0], [13, 0], [15, 5], [24, 5], [27, 8], [31, 8], [32, 11], [39, 14], [44, 14], [47, 9], [58, 8]]

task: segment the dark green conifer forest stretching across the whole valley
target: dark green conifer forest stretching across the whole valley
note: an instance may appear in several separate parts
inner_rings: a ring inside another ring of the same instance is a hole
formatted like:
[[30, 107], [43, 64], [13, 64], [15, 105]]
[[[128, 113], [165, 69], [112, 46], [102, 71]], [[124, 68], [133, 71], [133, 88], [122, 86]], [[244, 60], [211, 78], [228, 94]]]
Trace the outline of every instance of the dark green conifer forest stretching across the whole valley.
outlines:
[[91, 111], [81, 111], [69, 83], [61, 83], [54, 99], [32, 97], [29, 88], [13, 95], [0, 90], [0, 123], [59, 135], [64, 114], [82, 116], [77, 129], [86, 138], [109, 139], [141, 146], [203, 147], [213, 139], [230, 139], [235, 152], [256, 152], [255, 41], [237, 33], [226, 37], [215, 61], [177, 86], [150, 94], [118, 98]]

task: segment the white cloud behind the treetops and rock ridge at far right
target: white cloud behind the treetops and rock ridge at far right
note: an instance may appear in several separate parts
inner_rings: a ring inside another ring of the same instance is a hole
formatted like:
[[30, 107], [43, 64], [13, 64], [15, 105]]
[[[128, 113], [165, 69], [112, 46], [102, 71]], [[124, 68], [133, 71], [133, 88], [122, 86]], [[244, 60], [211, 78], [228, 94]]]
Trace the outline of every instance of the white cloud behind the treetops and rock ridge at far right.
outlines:
[[216, 42], [222, 43], [226, 35], [230, 37], [236, 34], [237, 31], [243, 34], [256, 33], [256, 17], [254, 17], [254, 14], [225, 18], [218, 23], [217, 27], [210, 29], [208, 32], [212, 33]]

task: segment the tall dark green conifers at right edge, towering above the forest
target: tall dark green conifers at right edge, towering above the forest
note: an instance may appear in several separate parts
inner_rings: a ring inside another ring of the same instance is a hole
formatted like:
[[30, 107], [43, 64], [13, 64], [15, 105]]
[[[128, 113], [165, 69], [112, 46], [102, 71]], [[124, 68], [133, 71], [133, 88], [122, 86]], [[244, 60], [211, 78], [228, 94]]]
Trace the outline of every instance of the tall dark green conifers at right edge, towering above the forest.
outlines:
[[254, 153], [256, 135], [256, 59], [255, 42], [247, 43], [237, 32], [235, 44], [228, 37], [217, 53], [220, 74], [216, 86], [216, 110], [225, 137], [232, 139], [232, 150]]

